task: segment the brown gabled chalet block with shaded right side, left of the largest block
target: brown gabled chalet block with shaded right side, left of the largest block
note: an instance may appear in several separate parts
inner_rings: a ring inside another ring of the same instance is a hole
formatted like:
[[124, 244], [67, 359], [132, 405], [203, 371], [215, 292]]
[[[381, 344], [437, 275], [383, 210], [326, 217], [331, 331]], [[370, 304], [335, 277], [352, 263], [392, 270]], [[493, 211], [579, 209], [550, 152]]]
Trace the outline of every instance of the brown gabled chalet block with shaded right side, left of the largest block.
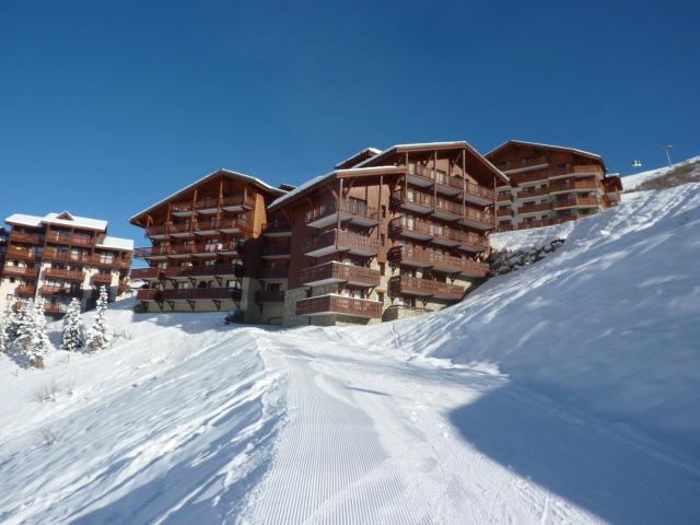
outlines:
[[149, 312], [241, 312], [246, 323], [282, 320], [291, 230], [267, 207], [285, 189], [219, 170], [131, 218], [151, 246], [148, 268], [131, 272], [148, 288]]

